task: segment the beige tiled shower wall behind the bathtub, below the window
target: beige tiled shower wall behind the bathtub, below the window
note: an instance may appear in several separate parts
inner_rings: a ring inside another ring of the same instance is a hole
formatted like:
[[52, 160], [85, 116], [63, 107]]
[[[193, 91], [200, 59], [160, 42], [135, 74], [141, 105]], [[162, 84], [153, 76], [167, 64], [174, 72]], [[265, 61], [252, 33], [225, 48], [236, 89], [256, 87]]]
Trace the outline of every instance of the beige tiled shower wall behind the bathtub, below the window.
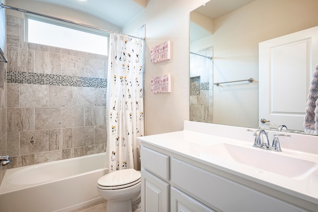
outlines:
[[108, 57], [24, 42], [7, 15], [8, 168], [104, 152]]

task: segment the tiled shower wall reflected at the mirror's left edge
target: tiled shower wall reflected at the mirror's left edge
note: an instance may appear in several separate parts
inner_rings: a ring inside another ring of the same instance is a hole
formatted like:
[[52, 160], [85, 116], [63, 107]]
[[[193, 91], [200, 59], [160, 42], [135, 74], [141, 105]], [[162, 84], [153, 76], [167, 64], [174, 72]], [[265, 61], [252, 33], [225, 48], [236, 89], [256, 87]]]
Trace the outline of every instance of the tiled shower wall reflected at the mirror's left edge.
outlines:
[[[212, 47], [195, 52], [213, 56]], [[190, 121], [213, 123], [213, 61], [190, 54]]]

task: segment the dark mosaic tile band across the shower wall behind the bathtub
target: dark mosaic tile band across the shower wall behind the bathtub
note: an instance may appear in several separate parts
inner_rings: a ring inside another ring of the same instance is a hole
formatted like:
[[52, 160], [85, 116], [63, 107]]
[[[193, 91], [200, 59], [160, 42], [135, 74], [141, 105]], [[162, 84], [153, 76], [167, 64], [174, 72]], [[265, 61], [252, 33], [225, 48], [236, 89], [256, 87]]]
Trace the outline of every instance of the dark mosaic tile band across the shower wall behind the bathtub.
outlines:
[[67, 76], [47, 73], [33, 73], [22, 71], [6, 71], [5, 81], [8, 83], [20, 84], [41, 84], [41, 85], [62, 85], [76, 87], [107, 87], [107, 79]]

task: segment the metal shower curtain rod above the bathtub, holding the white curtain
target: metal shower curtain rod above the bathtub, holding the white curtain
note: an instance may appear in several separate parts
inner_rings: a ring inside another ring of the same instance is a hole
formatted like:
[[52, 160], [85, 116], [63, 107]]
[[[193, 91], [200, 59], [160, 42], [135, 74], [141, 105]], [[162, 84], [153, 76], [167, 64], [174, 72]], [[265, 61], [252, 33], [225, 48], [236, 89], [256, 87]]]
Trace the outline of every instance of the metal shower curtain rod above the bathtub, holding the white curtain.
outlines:
[[[79, 26], [83, 26], [83, 27], [87, 27], [87, 28], [91, 28], [91, 29], [96, 29], [96, 30], [100, 30], [100, 31], [104, 31], [104, 32], [116, 33], [116, 34], [120, 34], [120, 35], [127, 35], [127, 34], [124, 34], [124, 33], [121, 33], [121, 32], [116, 32], [116, 31], [111, 31], [111, 30], [107, 30], [107, 29], [102, 29], [102, 28], [98, 28], [98, 27], [95, 27], [95, 26], [90, 26], [90, 25], [77, 23], [77, 22], [66, 20], [66, 19], [62, 19], [62, 18], [57, 18], [57, 17], [44, 15], [44, 14], [37, 13], [37, 12], [32, 12], [32, 11], [25, 10], [25, 9], [16, 8], [16, 7], [13, 7], [13, 6], [4, 5], [3, 3], [1, 3], [1, 8], [12, 9], [12, 10], [16, 10], [16, 11], [19, 11], [19, 12], [25, 12], [25, 13], [30, 13], [30, 14], [34, 14], [34, 15], [39, 15], [39, 16], [43, 16], [43, 17], [46, 17], [46, 18], [51, 18], [51, 19], [58, 20], [58, 21], [63, 21], [63, 22], [71, 23], [71, 24], [76, 24], [76, 25], [79, 25]], [[131, 38], [137, 38], [137, 39], [145, 40], [145, 38], [141, 38], [141, 37], [136, 37], [136, 36], [132, 36], [132, 35], [127, 35], [127, 36], [129, 36]]]

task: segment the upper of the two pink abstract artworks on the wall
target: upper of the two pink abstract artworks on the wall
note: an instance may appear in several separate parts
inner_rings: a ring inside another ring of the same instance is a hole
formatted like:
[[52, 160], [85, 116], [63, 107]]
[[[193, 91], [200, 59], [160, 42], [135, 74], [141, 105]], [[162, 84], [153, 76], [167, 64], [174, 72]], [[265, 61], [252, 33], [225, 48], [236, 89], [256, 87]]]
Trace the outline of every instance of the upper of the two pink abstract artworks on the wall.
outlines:
[[170, 41], [161, 43], [151, 48], [151, 63], [156, 64], [170, 60]]

